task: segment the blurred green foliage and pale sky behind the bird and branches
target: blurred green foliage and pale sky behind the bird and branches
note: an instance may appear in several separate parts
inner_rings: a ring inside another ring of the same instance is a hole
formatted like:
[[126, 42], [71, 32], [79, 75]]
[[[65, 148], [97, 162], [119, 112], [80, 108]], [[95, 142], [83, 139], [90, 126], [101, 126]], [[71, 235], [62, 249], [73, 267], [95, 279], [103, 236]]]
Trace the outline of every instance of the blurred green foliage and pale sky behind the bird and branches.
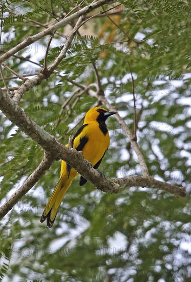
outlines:
[[[86, 1], [86, 5], [91, 1]], [[26, 36], [60, 21], [78, 1], [3, 1], [1, 54]], [[119, 5], [121, 4], [121, 5]], [[118, 1], [82, 26], [67, 56], [48, 81], [23, 95], [19, 106], [63, 145], [82, 124], [96, 98], [78, 83], [96, 82], [133, 130], [131, 66], [138, 143], [151, 175], [186, 187], [190, 175], [190, 1]], [[115, 22], [117, 26], [111, 21]], [[75, 23], [71, 23], [74, 25]], [[120, 28], [119, 28], [120, 27]], [[71, 26], [58, 31], [69, 34]], [[132, 39], [130, 39], [130, 37]], [[15, 72], [38, 74], [49, 38], [7, 59]], [[48, 54], [54, 62], [66, 39], [55, 34]], [[2, 67], [3, 68], [3, 67]], [[9, 87], [22, 84], [3, 68]], [[11, 78], [12, 77], [12, 78]], [[3, 80], [0, 86], [5, 87]], [[93, 88], [93, 90], [95, 90]], [[62, 110], [61, 110], [62, 109]], [[111, 145], [100, 166], [110, 177], [141, 174], [129, 139], [114, 117]], [[22, 185], [43, 151], [1, 114], [1, 203]], [[6, 215], [1, 224], [1, 280], [5, 281], [188, 281], [189, 196], [177, 198], [131, 187], [105, 194], [77, 177], [52, 229], [39, 219], [59, 178], [60, 162]]]

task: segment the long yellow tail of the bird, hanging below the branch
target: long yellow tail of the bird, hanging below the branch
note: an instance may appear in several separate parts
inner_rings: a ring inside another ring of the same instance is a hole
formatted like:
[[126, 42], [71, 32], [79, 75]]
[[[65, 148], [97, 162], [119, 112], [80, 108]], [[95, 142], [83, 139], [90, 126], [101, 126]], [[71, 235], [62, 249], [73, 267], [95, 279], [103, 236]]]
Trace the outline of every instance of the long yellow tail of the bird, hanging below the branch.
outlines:
[[49, 228], [51, 228], [54, 224], [58, 208], [68, 188], [70, 187], [73, 178], [74, 177], [60, 176], [58, 184], [56, 185], [49, 202], [46, 205], [43, 215], [40, 218], [40, 222], [43, 223], [47, 219], [47, 226]]

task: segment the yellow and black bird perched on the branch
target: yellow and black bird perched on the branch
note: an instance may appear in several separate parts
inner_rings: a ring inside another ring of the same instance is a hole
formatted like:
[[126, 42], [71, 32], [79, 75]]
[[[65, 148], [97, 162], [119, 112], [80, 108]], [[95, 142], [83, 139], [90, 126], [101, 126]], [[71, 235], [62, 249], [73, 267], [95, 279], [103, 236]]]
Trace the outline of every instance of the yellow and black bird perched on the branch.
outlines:
[[[101, 107], [90, 109], [85, 118], [84, 123], [78, 129], [72, 139], [72, 148], [83, 152], [83, 157], [87, 159], [92, 166], [97, 169], [101, 160], [110, 145], [110, 136], [105, 120], [116, 112], [107, 111]], [[68, 144], [66, 145], [69, 146]], [[48, 204], [41, 216], [40, 222], [43, 223], [47, 219], [47, 226], [51, 228], [68, 188], [72, 180], [77, 176], [77, 171], [62, 160], [60, 178], [56, 185]], [[79, 185], [82, 186], [87, 180], [81, 176]]]

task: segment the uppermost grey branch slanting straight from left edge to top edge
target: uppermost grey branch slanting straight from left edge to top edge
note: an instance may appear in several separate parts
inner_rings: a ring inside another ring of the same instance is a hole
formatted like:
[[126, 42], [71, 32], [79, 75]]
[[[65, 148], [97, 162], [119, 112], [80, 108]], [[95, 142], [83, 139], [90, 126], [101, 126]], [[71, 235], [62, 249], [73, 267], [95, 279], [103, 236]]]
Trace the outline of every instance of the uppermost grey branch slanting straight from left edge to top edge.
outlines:
[[63, 18], [60, 22], [56, 23], [55, 25], [41, 31], [33, 36], [28, 36], [22, 43], [16, 45], [15, 47], [11, 48], [5, 54], [0, 57], [0, 64], [4, 62], [6, 59], [10, 58], [12, 55], [16, 54], [18, 51], [23, 50], [25, 47], [31, 45], [32, 43], [38, 41], [40, 38], [45, 37], [46, 35], [53, 35], [57, 29], [69, 24], [74, 19], [86, 15], [93, 11], [94, 9], [102, 6], [103, 4], [109, 4], [112, 0], [98, 0], [95, 3], [91, 3], [90, 5], [80, 9], [79, 11], [75, 12], [74, 14]]

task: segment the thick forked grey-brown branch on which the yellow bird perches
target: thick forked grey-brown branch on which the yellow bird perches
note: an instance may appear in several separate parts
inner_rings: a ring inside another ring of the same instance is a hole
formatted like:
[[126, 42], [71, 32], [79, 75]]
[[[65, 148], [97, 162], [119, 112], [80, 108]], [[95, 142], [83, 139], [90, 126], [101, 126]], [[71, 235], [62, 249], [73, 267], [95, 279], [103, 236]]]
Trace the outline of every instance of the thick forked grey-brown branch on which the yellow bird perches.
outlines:
[[[114, 109], [107, 100], [104, 100], [104, 103], [107, 104], [106, 106], [108, 108], [111, 108], [112, 110]], [[185, 196], [185, 189], [183, 187], [177, 187], [168, 183], [160, 182], [148, 175], [114, 179], [102, 175], [97, 170], [90, 167], [86, 160], [84, 160], [82, 152], [77, 152], [75, 149], [67, 148], [59, 144], [53, 136], [34, 123], [33, 120], [31, 120], [28, 115], [1, 90], [0, 105], [1, 110], [11, 120], [11, 122], [22, 129], [45, 150], [45, 157], [41, 164], [26, 180], [24, 185], [20, 187], [0, 209], [0, 218], [3, 218], [4, 215], [18, 202], [18, 200], [34, 186], [34, 184], [44, 175], [45, 171], [56, 159], [65, 160], [65, 162], [75, 168], [78, 173], [92, 182], [103, 192], [117, 193], [119, 188], [127, 186], [141, 186], [164, 190], [182, 197]], [[118, 119], [121, 122], [119, 117]]]

